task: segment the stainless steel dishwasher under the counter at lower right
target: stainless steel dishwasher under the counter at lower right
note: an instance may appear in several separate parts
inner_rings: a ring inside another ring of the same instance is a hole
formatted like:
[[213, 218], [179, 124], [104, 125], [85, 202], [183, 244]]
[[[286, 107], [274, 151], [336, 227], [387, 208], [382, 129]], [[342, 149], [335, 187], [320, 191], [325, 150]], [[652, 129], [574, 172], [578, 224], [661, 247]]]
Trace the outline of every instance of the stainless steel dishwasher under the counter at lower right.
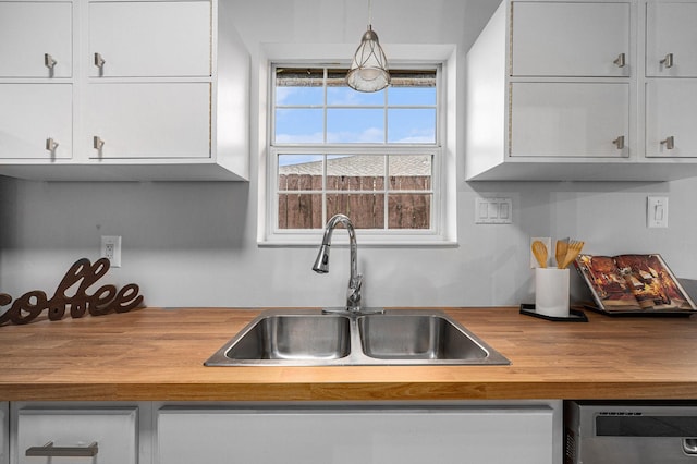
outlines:
[[697, 464], [697, 402], [564, 402], [564, 464]]

